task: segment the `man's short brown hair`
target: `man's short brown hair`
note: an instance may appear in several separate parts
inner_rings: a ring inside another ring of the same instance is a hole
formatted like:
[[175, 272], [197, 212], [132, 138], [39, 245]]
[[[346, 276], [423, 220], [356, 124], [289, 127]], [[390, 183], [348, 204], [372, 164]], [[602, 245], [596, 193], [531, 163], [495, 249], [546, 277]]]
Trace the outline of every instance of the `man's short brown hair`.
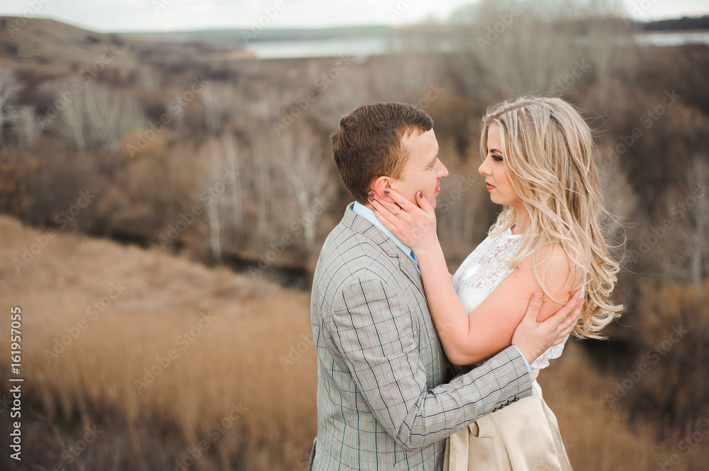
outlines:
[[340, 128], [330, 140], [347, 191], [359, 203], [367, 203], [376, 178], [401, 177], [408, 157], [401, 149], [401, 139], [432, 128], [433, 120], [424, 110], [406, 103], [363, 105], [342, 116]]

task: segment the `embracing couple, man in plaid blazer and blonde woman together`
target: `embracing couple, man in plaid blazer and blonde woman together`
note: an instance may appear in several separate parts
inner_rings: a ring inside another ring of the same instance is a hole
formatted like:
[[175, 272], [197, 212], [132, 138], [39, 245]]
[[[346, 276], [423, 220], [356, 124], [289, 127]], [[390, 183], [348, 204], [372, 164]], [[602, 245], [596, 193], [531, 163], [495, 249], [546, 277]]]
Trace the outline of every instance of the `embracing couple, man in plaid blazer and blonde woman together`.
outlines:
[[436, 236], [448, 171], [430, 116], [361, 106], [332, 141], [355, 201], [313, 280], [310, 469], [570, 470], [537, 374], [571, 331], [600, 338], [620, 311], [581, 115], [559, 98], [489, 110], [479, 172], [503, 210], [452, 276]]

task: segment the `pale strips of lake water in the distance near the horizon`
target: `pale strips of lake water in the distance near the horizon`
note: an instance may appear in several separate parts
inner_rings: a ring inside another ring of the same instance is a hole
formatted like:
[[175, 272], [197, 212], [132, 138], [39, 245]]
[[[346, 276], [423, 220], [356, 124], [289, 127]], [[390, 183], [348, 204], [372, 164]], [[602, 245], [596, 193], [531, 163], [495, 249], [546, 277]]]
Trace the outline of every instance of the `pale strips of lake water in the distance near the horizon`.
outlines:
[[[709, 44], [709, 31], [682, 33], [640, 33], [635, 41], [641, 45], [676, 46], [689, 43]], [[386, 38], [345, 38], [333, 40], [262, 41], [251, 42], [247, 50], [259, 59], [289, 59], [296, 57], [353, 57], [384, 55], [401, 52], [401, 43]]]

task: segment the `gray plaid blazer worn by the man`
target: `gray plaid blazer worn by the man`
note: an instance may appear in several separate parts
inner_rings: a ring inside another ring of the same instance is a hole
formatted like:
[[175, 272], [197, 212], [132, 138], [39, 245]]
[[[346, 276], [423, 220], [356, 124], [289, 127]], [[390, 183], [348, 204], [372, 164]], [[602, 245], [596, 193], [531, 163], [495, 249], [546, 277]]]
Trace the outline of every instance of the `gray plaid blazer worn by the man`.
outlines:
[[451, 380], [413, 261], [351, 208], [313, 279], [318, 436], [309, 469], [440, 470], [447, 436], [531, 395], [525, 360], [510, 346]]

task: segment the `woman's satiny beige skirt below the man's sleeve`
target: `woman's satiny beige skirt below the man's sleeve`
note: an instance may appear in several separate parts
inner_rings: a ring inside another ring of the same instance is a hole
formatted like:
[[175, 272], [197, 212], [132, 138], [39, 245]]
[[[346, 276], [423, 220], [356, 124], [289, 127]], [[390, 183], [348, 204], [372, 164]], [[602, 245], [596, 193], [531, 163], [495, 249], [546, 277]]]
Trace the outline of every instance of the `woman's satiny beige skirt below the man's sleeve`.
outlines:
[[446, 440], [444, 471], [571, 471], [552, 409], [532, 375], [532, 395], [488, 414]]

